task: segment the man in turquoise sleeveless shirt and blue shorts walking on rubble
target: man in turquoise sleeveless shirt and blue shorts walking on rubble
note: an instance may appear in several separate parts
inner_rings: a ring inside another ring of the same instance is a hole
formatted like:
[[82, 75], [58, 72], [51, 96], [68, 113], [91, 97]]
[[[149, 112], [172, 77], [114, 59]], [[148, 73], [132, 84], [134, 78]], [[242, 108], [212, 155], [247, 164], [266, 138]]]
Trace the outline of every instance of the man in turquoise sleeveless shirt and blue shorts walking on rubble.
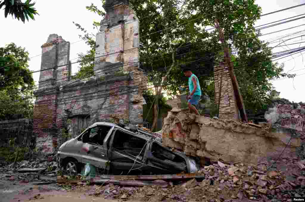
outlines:
[[199, 80], [188, 68], [183, 70], [183, 74], [188, 77], [188, 89], [190, 91], [190, 94], [186, 98], [188, 100], [188, 109], [191, 113], [194, 112], [196, 115], [200, 115], [195, 107], [199, 103], [201, 97]]

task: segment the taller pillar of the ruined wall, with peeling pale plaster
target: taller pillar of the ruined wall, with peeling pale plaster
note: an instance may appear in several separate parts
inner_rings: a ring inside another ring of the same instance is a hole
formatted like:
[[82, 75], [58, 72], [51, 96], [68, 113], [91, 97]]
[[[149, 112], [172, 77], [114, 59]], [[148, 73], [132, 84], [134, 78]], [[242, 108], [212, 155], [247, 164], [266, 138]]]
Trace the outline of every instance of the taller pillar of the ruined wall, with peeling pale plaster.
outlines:
[[[147, 83], [139, 68], [139, 20], [128, 1], [107, 0], [103, 7], [106, 16], [96, 35], [94, 70], [97, 78], [110, 79], [107, 84], [110, 97], [104, 109], [99, 110], [99, 117], [107, 120], [115, 115], [139, 122], [143, 120], [142, 104], [145, 103], [141, 90]], [[118, 73], [122, 76], [118, 77]]]

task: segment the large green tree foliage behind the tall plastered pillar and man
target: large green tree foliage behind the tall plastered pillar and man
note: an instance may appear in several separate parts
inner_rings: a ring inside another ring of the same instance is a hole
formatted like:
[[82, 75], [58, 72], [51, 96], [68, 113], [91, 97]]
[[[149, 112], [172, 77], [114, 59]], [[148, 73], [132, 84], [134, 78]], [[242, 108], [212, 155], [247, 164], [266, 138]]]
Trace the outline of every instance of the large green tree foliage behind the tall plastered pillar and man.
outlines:
[[[214, 20], [224, 29], [224, 39], [232, 51], [235, 74], [246, 109], [251, 113], [267, 108], [273, 90], [270, 80], [293, 77], [283, 74], [283, 65], [270, 59], [271, 49], [258, 37], [254, 23], [260, 19], [261, 8], [254, 0], [130, 0], [140, 19], [140, 65], [149, 72], [149, 82], [160, 85], [172, 67], [163, 90], [174, 98], [178, 88], [188, 85], [181, 65], [191, 67], [203, 93], [214, 99], [213, 67], [224, 59]], [[105, 13], [92, 5], [86, 7], [100, 16]], [[93, 23], [98, 29], [99, 23]], [[79, 75], [93, 74], [95, 46], [86, 30], [82, 36], [90, 45]], [[174, 56], [172, 56], [174, 53]], [[88, 62], [90, 59], [90, 62]], [[125, 61], [126, 62], [126, 61]]]

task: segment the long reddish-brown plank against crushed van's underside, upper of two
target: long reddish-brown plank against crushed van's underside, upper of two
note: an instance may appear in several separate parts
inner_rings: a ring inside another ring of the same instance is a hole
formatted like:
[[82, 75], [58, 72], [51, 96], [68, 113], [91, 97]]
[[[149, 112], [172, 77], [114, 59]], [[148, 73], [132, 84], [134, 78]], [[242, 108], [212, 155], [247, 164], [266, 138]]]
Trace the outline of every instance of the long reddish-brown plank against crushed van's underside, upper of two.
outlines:
[[195, 173], [174, 174], [174, 175], [100, 175], [94, 179], [122, 179], [122, 180], [183, 180], [183, 179], [204, 179], [204, 175]]

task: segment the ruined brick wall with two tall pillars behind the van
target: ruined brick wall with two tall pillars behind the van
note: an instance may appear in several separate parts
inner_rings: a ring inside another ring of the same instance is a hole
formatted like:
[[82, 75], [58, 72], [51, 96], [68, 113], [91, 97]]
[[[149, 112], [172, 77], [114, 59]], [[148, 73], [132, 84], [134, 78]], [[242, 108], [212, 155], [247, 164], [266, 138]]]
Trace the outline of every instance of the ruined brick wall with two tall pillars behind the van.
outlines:
[[138, 63], [138, 18], [126, 1], [104, 7], [107, 14], [96, 36], [95, 76], [70, 80], [70, 43], [57, 34], [41, 46], [43, 71], [35, 91], [34, 133], [37, 147], [45, 152], [53, 152], [64, 141], [63, 128], [75, 136], [94, 122], [143, 120], [147, 75]]

